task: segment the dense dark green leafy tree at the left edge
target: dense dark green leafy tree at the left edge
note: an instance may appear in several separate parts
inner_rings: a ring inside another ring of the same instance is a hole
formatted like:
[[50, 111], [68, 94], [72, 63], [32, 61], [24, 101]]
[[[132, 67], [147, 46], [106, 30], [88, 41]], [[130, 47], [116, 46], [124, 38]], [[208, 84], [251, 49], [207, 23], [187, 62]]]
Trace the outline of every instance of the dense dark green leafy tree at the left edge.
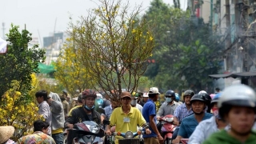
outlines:
[[45, 51], [39, 50], [38, 45], [29, 48], [32, 40], [28, 30], [18, 30], [18, 26], [11, 25], [7, 36], [8, 51], [0, 55], [0, 95], [11, 88], [11, 82], [20, 82], [18, 91], [26, 95], [31, 90], [31, 74], [38, 72], [38, 62], [43, 62]]

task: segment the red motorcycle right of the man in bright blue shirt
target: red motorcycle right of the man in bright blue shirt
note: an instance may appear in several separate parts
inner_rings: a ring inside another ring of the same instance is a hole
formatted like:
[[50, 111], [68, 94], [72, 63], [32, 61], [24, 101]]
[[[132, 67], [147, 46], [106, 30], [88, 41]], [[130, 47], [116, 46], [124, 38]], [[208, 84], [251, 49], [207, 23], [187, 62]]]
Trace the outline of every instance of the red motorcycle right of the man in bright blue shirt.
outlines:
[[176, 126], [174, 125], [174, 116], [173, 115], [166, 115], [164, 117], [161, 117], [159, 122], [162, 122], [161, 132], [164, 134], [164, 143], [165, 144], [171, 144], [172, 137], [174, 130], [176, 129]]

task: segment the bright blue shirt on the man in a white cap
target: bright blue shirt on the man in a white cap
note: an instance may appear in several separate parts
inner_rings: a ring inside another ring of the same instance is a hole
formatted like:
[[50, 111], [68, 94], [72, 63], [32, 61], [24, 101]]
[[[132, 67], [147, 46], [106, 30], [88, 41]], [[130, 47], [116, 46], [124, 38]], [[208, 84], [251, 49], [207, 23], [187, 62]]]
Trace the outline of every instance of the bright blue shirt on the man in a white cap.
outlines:
[[[147, 123], [150, 123], [150, 115], [154, 116], [154, 122], [157, 123], [157, 119], [155, 118], [156, 115], [156, 109], [154, 102], [149, 99], [143, 106], [142, 115], [145, 118]], [[151, 138], [151, 137], [157, 137], [157, 134], [154, 133], [154, 130], [152, 130], [150, 126], [151, 134], [143, 134], [143, 138]]]

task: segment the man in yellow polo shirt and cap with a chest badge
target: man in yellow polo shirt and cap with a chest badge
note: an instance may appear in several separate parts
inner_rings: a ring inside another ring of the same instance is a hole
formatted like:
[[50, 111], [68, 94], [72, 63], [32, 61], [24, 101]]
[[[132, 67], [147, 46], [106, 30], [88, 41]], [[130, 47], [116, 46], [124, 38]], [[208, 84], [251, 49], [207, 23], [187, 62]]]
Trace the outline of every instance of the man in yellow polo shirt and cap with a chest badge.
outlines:
[[[142, 113], [135, 107], [130, 106], [131, 94], [129, 92], [122, 92], [120, 94], [122, 106], [115, 108], [110, 116], [110, 125], [106, 126], [106, 134], [111, 135], [110, 126], [115, 126], [115, 132], [126, 133], [127, 131], [136, 132], [137, 126], [142, 126], [146, 129], [146, 134], [150, 134], [151, 131], [146, 124]], [[118, 138], [116, 136], [115, 144], [118, 144]]]

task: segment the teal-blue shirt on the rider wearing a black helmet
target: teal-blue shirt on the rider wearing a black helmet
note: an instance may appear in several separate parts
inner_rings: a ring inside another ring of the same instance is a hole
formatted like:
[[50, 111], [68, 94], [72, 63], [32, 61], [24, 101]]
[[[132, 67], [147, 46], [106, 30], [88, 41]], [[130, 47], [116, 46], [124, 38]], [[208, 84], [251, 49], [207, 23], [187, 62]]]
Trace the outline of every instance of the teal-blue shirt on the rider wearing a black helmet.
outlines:
[[[202, 121], [209, 119], [212, 116], [213, 114], [205, 113]], [[198, 121], [194, 118], [194, 114], [192, 114], [182, 120], [182, 124], [178, 130], [178, 135], [182, 136], [182, 138], [190, 138], [190, 135], [194, 132], [196, 126], [198, 126]]]

